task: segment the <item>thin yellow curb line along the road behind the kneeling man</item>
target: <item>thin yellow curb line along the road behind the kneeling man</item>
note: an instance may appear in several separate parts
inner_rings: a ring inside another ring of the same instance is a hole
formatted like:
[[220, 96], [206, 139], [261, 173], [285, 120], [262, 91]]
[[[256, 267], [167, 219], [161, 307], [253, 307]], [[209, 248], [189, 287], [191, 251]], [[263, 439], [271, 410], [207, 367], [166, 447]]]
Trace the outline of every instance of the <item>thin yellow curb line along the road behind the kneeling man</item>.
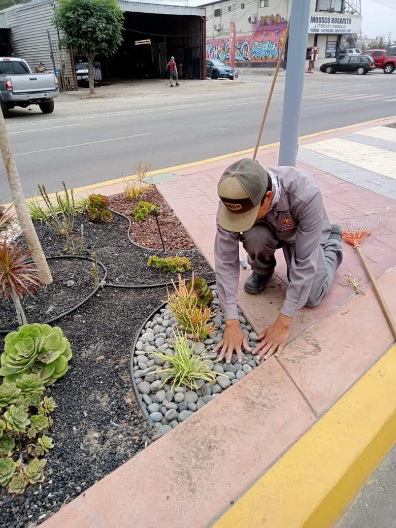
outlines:
[[[346, 130], [348, 128], [370, 125], [373, 123], [377, 123], [379, 121], [386, 121], [388, 119], [396, 119], [396, 116], [380, 117], [378, 119], [371, 119], [370, 121], [363, 121], [361, 123], [356, 123], [355, 125], [347, 125], [345, 127], [331, 128], [329, 130], [322, 130], [321, 132], [315, 132], [314, 134], [307, 134], [305, 136], [300, 136], [298, 140], [301, 141], [303, 139], [310, 139], [310, 138], [317, 137], [317, 136], [324, 136], [325, 134], [332, 134], [340, 130]], [[267, 145], [261, 145], [259, 147], [259, 150], [264, 150], [266, 148], [278, 147], [278, 146], [279, 146], [279, 142], [268, 143]], [[160, 168], [160, 169], [157, 169], [156, 171], [148, 172], [147, 176], [155, 176], [156, 174], [163, 174], [165, 172], [171, 172], [171, 171], [180, 171], [183, 168], [195, 167], [196, 165], [206, 165], [206, 163], [218, 162], [218, 161], [221, 161], [222, 159], [232, 158], [233, 156], [242, 156], [243, 154], [250, 154], [252, 152], [254, 152], [254, 148], [247, 148], [246, 150], [238, 150], [238, 152], [231, 152], [230, 154], [222, 154], [221, 156], [215, 156], [213, 158], [201, 159], [197, 162], [183, 163], [182, 165], [174, 165], [173, 167]], [[115, 185], [117, 183], [122, 183], [124, 181], [130, 181], [130, 180], [136, 180], [136, 174], [132, 174], [130, 176], [123, 176], [122, 178], [115, 178], [114, 180], [106, 180], [105, 182], [93, 183], [91, 185], [85, 185], [83, 187], [77, 187], [77, 188], [74, 188], [74, 193], [78, 194], [84, 191], [93, 191], [94, 189], [97, 189], [99, 187], [106, 187], [107, 185]], [[55, 193], [49, 193], [48, 197], [50, 199], [54, 198]], [[37, 200], [41, 201], [41, 197], [37, 196]], [[4, 204], [5, 207], [8, 207], [10, 205], [12, 205], [12, 203]]]

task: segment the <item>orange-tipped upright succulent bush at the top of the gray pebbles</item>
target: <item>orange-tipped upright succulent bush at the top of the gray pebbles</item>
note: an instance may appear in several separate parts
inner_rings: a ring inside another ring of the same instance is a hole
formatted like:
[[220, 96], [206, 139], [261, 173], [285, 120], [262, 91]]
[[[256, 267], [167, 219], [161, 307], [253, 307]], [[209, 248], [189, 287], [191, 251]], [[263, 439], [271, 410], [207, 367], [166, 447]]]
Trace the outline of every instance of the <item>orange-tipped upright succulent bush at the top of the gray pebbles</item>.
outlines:
[[194, 276], [188, 283], [189, 285], [186, 284], [180, 274], [178, 287], [173, 281], [172, 283], [173, 293], [169, 293], [168, 290], [167, 303], [169, 309], [187, 334], [191, 334], [194, 339], [205, 339], [215, 329], [213, 324], [209, 324], [214, 312], [209, 306], [199, 304], [199, 299], [194, 291]]

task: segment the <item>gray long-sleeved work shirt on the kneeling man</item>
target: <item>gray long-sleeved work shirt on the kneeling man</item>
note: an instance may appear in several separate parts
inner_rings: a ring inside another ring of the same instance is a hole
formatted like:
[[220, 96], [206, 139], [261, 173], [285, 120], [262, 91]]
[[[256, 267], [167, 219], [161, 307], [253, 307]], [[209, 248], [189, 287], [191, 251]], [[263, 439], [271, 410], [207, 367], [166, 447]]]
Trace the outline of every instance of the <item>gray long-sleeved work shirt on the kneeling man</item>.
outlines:
[[[295, 167], [268, 167], [268, 170], [278, 177], [281, 191], [278, 203], [264, 220], [279, 241], [295, 244], [289, 286], [280, 313], [295, 317], [308, 299], [319, 246], [328, 240], [331, 227], [322, 194], [312, 175]], [[224, 318], [238, 319], [240, 233], [222, 229], [218, 219], [216, 227], [214, 262], [218, 295]]]

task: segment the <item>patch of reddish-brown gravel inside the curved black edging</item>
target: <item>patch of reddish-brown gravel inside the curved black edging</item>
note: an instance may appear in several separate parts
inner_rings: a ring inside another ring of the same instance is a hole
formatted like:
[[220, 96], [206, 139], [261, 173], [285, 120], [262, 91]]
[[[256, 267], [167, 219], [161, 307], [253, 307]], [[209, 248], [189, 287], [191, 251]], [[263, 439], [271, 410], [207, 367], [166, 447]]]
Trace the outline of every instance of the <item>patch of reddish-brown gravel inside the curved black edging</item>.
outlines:
[[135, 221], [132, 211], [140, 200], [153, 203], [159, 207], [157, 218], [166, 251], [193, 249], [195, 247], [194, 242], [188, 236], [183, 225], [176, 218], [173, 209], [169, 207], [161, 193], [159, 193], [156, 188], [152, 191], [146, 192], [138, 200], [128, 200], [124, 194], [117, 194], [110, 197], [111, 209], [129, 216], [131, 219], [131, 237], [137, 244], [145, 246], [146, 248], [162, 249], [161, 238], [159, 237], [155, 217], [148, 214], [141, 222]]

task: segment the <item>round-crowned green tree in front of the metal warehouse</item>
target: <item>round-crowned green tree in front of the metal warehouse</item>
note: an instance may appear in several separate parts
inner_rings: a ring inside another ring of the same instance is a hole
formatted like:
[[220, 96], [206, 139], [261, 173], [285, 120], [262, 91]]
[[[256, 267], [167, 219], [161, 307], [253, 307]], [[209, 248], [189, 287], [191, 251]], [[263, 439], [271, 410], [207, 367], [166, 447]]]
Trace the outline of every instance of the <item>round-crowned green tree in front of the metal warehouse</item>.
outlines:
[[117, 0], [60, 0], [54, 24], [64, 33], [66, 48], [87, 56], [89, 92], [95, 93], [95, 55], [112, 55], [122, 42], [124, 14]]

